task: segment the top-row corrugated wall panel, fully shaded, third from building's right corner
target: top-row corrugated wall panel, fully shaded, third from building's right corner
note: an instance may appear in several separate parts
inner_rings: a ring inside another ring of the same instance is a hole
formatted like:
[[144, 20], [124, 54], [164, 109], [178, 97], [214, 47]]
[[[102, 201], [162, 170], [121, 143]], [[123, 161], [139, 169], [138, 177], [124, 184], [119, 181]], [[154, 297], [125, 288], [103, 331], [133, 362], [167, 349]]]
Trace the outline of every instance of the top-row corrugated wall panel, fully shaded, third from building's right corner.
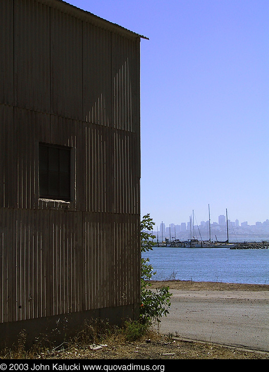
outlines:
[[51, 8], [51, 111], [82, 120], [82, 21]]

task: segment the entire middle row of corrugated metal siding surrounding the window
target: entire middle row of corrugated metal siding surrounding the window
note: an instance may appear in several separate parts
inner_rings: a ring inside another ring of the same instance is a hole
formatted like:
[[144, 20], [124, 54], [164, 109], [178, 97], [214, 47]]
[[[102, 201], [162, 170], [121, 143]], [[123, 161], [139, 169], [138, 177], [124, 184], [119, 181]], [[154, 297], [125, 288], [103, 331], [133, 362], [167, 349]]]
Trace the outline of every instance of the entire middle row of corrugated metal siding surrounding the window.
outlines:
[[[16, 135], [13, 136], [13, 126], [10, 126], [13, 111], [3, 105], [1, 109], [8, 113], [5, 118], [2, 116], [3, 123], [6, 124], [1, 128], [3, 147], [8, 147], [7, 153], [10, 152], [11, 156], [1, 159], [3, 179], [6, 178], [8, 190], [1, 189], [3, 206], [7, 205], [4, 204], [4, 199], [13, 196], [10, 189], [12, 184], [15, 199], [12, 206], [44, 209], [52, 207], [52, 203], [38, 198], [38, 143], [44, 142], [75, 149], [75, 201], [68, 205], [54, 203], [54, 208], [139, 213], [135, 133], [98, 125], [83, 125], [61, 116], [15, 108]], [[13, 146], [7, 142], [9, 138], [14, 141]], [[4, 177], [5, 172], [8, 175]], [[4, 192], [7, 197], [4, 197]]]

